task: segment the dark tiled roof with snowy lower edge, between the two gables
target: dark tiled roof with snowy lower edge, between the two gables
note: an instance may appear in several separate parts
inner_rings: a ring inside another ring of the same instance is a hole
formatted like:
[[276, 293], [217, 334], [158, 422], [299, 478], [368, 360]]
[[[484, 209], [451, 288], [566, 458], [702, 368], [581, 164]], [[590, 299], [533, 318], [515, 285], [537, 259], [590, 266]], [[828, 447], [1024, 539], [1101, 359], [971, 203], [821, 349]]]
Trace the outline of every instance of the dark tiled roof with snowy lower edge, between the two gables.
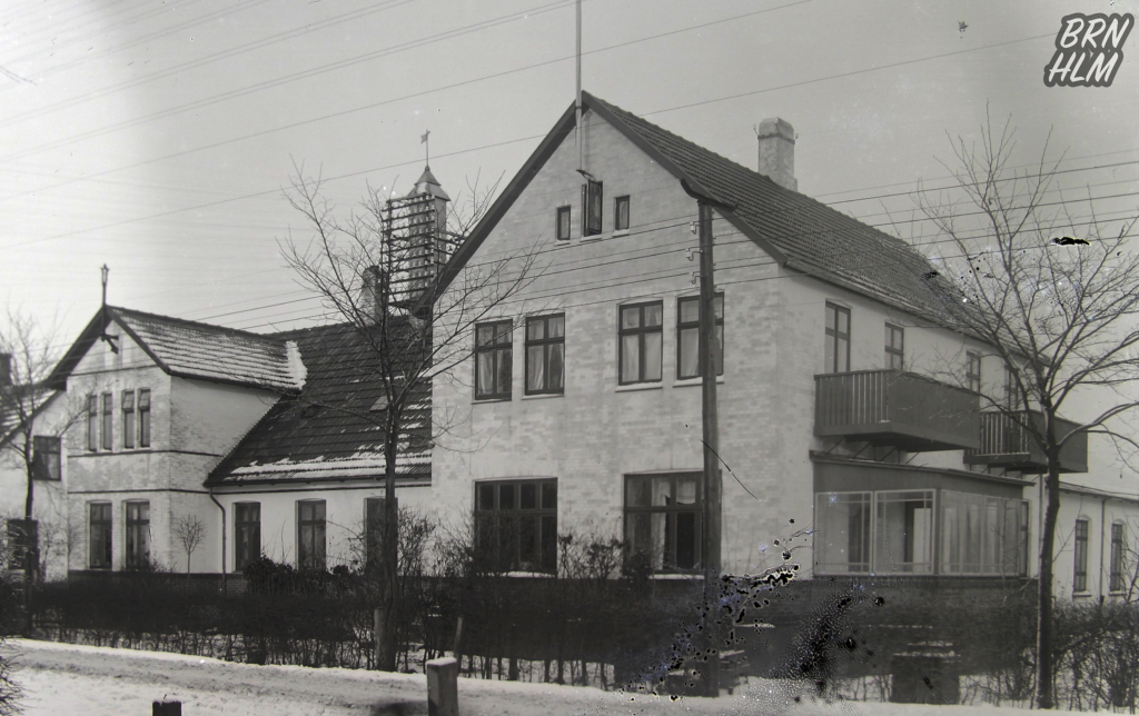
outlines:
[[[391, 328], [390, 330], [398, 330]], [[207, 485], [319, 479], [379, 479], [384, 476], [384, 396], [378, 355], [351, 324], [277, 334], [295, 340], [306, 370], [300, 395], [285, 396], [210, 474]], [[424, 385], [404, 413], [409, 437], [401, 444], [398, 472], [431, 476], [431, 387]]]

